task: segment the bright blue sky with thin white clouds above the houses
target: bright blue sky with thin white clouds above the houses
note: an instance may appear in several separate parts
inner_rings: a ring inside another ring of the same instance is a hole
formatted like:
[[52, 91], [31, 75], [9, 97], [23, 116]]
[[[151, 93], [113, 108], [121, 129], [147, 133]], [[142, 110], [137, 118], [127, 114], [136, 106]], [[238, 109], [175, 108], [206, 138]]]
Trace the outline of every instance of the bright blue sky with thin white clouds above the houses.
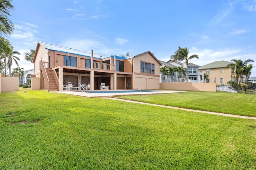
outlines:
[[[256, 0], [13, 0], [8, 37], [20, 51], [20, 67], [33, 69], [24, 53], [38, 41], [102, 55], [151, 51], [162, 61], [180, 47], [205, 65], [254, 59]], [[16, 67], [13, 65], [12, 68]], [[256, 67], [250, 77], [256, 77]]]

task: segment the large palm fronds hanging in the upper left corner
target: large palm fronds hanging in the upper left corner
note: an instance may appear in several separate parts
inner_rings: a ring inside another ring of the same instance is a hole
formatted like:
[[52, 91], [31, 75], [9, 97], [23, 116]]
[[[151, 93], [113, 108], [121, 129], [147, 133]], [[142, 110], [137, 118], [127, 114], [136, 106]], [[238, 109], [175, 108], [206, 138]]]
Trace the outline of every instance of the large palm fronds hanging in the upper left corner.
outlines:
[[2, 34], [10, 36], [14, 31], [14, 25], [8, 18], [8, 16], [10, 16], [9, 10], [13, 9], [14, 7], [10, 3], [10, 0], [0, 1], [0, 51], [5, 50], [5, 43], [8, 41], [2, 37]]

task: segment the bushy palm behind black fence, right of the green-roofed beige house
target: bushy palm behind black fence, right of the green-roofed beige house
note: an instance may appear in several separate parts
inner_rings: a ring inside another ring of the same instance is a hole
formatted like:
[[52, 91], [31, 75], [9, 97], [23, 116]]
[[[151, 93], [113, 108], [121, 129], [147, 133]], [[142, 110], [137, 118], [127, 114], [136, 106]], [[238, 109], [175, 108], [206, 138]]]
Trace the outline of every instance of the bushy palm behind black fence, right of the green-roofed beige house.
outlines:
[[246, 59], [245, 61], [242, 61], [240, 59], [232, 59], [231, 61], [233, 61], [234, 63], [230, 63], [227, 65], [228, 67], [232, 67], [231, 68], [231, 76], [234, 75], [234, 70], [236, 67], [236, 75], [235, 78], [238, 77], [238, 84], [240, 85], [243, 81], [243, 75], [245, 75], [245, 68], [247, 67], [247, 64], [250, 62], [254, 62], [254, 60], [252, 59]]

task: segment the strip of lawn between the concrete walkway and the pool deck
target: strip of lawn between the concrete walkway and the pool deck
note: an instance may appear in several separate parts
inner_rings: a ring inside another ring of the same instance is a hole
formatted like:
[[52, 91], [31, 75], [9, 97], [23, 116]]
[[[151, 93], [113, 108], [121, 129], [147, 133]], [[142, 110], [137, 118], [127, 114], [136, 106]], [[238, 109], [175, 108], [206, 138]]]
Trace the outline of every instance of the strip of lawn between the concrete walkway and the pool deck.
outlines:
[[256, 117], [256, 95], [187, 91], [186, 93], [134, 95], [118, 98], [186, 109]]

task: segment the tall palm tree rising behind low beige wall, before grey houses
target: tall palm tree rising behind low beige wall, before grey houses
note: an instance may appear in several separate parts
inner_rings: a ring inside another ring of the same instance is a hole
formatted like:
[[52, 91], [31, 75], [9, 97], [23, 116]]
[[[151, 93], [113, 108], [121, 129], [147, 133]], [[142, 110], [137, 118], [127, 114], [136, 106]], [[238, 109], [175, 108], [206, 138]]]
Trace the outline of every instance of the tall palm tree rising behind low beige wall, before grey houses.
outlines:
[[199, 58], [198, 55], [195, 55], [195, 54], [188, 57], [188, 53], [189, 53], [189, 50], [188, 50], [187, 47], [181, 48], [179, 46], [178, 50], [175, 51], [175, 54], [171, 55], [171, 57], [170, 57], [172, 59], [172, 62], [185, 60], [185, 63], [186, 63], [186, 82], [188, 82], [188, 60], [193, 59], [193, 58], [197, 58], [197, 59]]

